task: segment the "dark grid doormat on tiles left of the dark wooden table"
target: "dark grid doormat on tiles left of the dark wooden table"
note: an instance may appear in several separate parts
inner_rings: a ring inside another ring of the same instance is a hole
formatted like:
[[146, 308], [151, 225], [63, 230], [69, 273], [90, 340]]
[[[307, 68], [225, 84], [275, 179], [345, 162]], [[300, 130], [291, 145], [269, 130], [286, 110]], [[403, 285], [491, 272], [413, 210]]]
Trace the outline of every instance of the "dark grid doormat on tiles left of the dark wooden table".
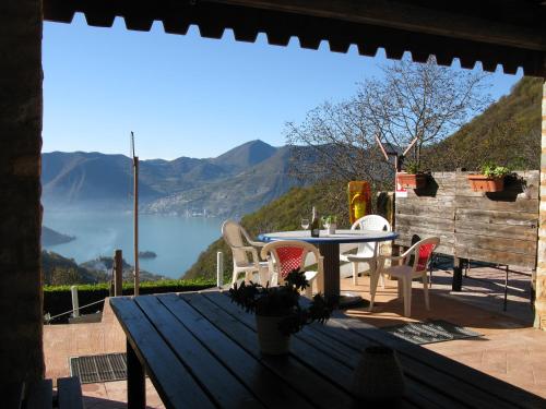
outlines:
[[82, 384], [127, 380], [127, 354], [70, 357], [70, 375], [79, 376]]

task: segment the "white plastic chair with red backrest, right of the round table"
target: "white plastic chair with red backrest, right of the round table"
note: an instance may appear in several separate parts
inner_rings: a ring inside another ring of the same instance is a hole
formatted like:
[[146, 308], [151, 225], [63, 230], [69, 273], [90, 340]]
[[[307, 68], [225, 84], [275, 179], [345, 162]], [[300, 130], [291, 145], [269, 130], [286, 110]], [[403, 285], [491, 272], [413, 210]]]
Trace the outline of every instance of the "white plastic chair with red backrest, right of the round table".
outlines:
[[[440, 243], [440, 238], [431, 237], [428, 239], [420, 240], [412, 245], [404, 254], [399, 256], [387, 256], [380, 255], [379, 267], [376, 274], [371, 276], [371, 300], [370, 300], [370, 311], [373, 309], [373, 300], [376, 298], [378, 277], [381, 273], [389, 274], [392, 277], [396, 277], [399, 280], [399, 297], [404, 298], [404, 315], [410, 316], [412, 314], [412, 280], [415, 277], [422, 277], [423, 279], [423, 292], [425, 296], [425, 306], [430, 310], [430, 303], [428, 299], [428, 263], [432, 252]], [[413, 255], [413, 257], [412, 257]], [[384, 261], [391, 260], [402, 261], [401, 265], [391, 266], [383, 268]]]

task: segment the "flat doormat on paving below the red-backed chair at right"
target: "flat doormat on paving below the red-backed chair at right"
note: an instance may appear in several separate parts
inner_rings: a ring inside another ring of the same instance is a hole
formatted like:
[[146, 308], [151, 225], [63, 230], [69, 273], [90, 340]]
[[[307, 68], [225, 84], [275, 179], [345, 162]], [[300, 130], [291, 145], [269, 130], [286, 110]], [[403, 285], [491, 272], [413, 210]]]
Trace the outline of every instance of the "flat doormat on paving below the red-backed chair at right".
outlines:
[[451, 324], [443, 320], [434, 320], [424, 323], [406, 323], [382, 327], [380, 329], [418, 345], [482, 336], [482, 334], [472, 329]]

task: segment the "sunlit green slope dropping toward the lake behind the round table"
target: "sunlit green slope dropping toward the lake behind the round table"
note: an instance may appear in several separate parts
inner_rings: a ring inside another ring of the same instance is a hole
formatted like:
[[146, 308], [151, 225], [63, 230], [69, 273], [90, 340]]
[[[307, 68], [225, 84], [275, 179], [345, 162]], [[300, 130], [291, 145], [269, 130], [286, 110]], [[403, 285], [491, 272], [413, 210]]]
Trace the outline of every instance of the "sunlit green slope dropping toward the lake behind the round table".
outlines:
[[[256, 237], [260, 232], [301, 229], [300, 220], [302, 217], [311, 217], [312, 206], [316, 206], [321, 215], [339, 214], [339, 210], [332, 209], [331, 204], [324, 202], [323, 189], [337, 189], [344, 192], [344, 187], [292, 188], [277, 200], [242, 217], [240, 222], [252, 237]], [[344, 226], [342, 222], [340, 227], [347, 228], [348, 226]], [[200, 254], [198, 261], [186, 272], [183, 278], [204, 277], [214, 279], [216, 277], [216, 253], [218, 251], [224, 253], [224, 276], [230, 279], [233, 272], [232, 251], [222, 238], [211, 243]]]

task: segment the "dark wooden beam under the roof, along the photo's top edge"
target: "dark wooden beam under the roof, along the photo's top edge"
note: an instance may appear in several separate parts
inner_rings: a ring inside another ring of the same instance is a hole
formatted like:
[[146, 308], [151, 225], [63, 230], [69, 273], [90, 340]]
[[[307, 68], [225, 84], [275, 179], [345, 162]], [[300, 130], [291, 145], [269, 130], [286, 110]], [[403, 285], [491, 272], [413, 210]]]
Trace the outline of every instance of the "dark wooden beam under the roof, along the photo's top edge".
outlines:
[[[529, 1], [496, 1], [487, 15], [479, 1], [464, 13], [442, 10], [441, 2], [429, 7], [416, 2], [388, 0], [202, 0], [302, 15], [314, 15], [359, 24], [404, 29], [450, 38], [467, 39], [498, 46], [546, 51], [546, 7]], [[436, 4], [435, 4], [436, 3]], [[525, 10], [522, 10], [525, 9]], [[475, 15], [472, 14], [474, 11]], [[519, 17], [521, 16], [521, 17]], [[531, 16], [531, 19], [530, 19]], [[519, 22], [520, 24], [515, 24]]]

